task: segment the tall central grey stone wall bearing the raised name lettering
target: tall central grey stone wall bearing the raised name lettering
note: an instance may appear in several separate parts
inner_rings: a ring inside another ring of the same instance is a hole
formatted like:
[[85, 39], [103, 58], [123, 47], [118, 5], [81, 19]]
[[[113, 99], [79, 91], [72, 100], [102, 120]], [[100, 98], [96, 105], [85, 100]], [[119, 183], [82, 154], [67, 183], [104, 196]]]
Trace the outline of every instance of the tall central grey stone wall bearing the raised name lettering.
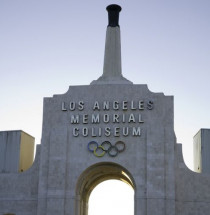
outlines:
[[[110, 102], [109, 110], [103, 110], [104, 101]], [[69, 107], [71, 102], [73, 106]], [[113, 108], [114, 102], [119, 104], [117, 108]], [[94, 124], [93, 114], [107, 114], [111, 120]], [[113, 122], [114, 115], [123, 114], [125, 121], [119, 118], [119, 122]], [[77, 115], [81, 120], [71, 121], [72, 115], [74, 120]], [[91, 130], [104, 131], [107, 127], [110, 135], [95, 135]], [[124, 136], [123, 127], [140, 127], [141, 133]], [[83, 128], [88, 129], [87, 135], [82, 133]], [[97, 157], [88, 150], [91, 141], [110, 141], [113, 145], [123, 141], [126, 149], [116, 157], [108, 153]], [[121, 165], [132, 175], [136, 214], [175, 214], [174, 147], [173, 97], [152, 93], [146, 85], [75, 86], [64, 95], [46, 98], [38, 214], [79, 214], [75, 208], [75, 202], [80, 201], [75, 190], [78, 179], [87, 168], [103, 162]]]

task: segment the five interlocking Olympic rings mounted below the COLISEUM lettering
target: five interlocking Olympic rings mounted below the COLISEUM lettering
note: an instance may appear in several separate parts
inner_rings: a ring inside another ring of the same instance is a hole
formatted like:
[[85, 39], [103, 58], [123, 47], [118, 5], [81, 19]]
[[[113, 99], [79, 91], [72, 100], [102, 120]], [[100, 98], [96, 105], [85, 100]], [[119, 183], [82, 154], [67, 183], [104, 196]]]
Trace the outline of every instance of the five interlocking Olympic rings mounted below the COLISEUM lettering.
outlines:
[[116, 157], [119, 153], [125, 150], [125, 143], [117, 141], [112, 145], [109, 141], [104, 141], [100, 145], [96, 141], [91, 141], [87, 146], [88, 150], [92, 152], [96, 157], [103, 157], [106, 153], [110, 157]]

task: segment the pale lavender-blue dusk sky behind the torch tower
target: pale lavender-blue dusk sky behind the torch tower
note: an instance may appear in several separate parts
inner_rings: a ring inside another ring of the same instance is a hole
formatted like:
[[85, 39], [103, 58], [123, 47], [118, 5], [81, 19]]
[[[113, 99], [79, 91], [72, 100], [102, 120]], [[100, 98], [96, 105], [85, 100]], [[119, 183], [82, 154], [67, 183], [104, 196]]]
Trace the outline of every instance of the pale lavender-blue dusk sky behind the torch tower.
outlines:
[[122, 72], [174, 96], [174, 127], [192, 168], [193, 136], [210, 128], [209, 0], [1, 0], [0, 130], [41, 141], [43, 97], [103, 72], [106, 6], [119, 4]]

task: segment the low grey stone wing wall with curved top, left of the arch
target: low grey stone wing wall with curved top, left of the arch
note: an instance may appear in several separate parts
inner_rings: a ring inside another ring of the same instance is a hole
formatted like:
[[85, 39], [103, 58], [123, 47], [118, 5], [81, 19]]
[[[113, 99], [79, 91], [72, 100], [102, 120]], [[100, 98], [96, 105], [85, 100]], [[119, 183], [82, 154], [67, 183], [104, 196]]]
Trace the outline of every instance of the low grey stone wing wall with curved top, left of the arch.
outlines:
[[0, 174], [0, 214], [36, 215], [40, 146], [32, 167], [22, 173]]

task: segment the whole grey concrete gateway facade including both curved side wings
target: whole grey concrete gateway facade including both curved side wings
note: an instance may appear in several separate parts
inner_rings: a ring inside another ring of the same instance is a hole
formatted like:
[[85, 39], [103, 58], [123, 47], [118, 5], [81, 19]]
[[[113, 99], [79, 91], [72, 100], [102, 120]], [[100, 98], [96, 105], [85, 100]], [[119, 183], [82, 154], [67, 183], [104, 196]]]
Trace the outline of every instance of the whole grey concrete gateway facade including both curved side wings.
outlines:
[[[119, 26], [110, 29], [119, 43]], [[0, 174], [0, 214], [87, 215], [91, 191], [107, 179], [133, 187], [135, 215], [209, 214], [210, 176], [185, 166], [173, 107], [173, 96], [134, 85], [120, 70], [45, 98], [33, 166]]]

